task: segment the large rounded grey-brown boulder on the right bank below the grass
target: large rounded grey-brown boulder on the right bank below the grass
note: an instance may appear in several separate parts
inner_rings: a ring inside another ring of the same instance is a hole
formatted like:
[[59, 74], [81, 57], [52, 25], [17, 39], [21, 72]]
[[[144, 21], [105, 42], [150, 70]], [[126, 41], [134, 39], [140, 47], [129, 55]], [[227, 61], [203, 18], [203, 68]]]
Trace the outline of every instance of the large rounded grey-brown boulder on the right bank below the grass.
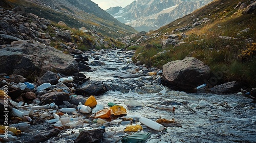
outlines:
[[193, 91], [210, 76], [210, 68], [202, 61], [189, 57], [163, 65], [166, 86], [183, 91]]

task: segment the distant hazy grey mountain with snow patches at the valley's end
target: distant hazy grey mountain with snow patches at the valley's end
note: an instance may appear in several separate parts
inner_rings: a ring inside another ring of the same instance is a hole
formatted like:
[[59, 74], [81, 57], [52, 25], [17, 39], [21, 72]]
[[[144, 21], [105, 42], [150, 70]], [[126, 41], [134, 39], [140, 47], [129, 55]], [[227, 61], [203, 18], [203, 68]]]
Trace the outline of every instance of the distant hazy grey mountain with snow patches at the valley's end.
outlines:
[[125, 8], [109, 8], [106, 12], [137, 31], [156, 30], [183, 17], [213, 0], [138, 0]]

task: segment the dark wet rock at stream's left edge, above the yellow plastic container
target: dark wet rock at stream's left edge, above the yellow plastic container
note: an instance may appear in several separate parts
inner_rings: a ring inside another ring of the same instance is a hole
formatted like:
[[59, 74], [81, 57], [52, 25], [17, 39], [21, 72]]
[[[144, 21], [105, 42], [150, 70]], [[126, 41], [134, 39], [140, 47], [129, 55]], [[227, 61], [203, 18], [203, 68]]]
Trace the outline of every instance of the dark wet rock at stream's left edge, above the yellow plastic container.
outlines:
[[76, 93], [82, 95], [99, 95], [106, 91], [107, 89], [102, 81], [87, 81], [76, 89]]

